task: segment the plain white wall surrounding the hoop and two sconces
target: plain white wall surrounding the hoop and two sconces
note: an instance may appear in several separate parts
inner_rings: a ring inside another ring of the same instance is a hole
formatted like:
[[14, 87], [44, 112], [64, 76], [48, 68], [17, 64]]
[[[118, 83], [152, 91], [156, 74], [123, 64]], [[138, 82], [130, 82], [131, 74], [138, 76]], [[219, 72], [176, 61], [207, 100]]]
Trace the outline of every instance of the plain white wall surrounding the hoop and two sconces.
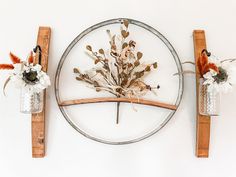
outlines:
[[[129, 17], [162, 32], [182, 61], [193, 60], [192, 31], [205, 29], [208, 49], [220, 58], [236, 57], [234, 0], [0, 0], [0, 61], [9, 50], [25, 56], [35, 45], [39, 25], [52, 27], [49, 75], [69, 42], [97, 22]], [[3, 85], [6, 74], [1, 72]], [[61, 115], [49, 89], [47, 155], [31, 158], [31, 121], [18, 112], [19, 93], [0, 94], [0, 177], [235, 177], [236, 89], [222, 98], [221, 116], [212, 119], [210, 157], [195, 157], [195, 79], [185, 78], [179, 110], [149, 139], [109, 146], [84, 138]]]

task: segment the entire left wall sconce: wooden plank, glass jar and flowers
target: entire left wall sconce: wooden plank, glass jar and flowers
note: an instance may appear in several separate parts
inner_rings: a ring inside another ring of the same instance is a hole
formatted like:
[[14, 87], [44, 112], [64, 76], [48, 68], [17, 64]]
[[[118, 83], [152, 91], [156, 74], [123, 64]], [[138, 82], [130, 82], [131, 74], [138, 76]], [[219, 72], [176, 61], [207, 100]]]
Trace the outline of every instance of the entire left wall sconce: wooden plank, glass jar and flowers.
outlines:
[[51, 29], [39, 27], [37, 45], [26, 60], [10, 53], [11, 64], [0, 64], [1, 70], [10, 70], [3, 92], [9, 82], [21, 89], [20, 112], [32, 116], [32, 157], [45, 156], [46, 88], [51, 85], [47, 75]]

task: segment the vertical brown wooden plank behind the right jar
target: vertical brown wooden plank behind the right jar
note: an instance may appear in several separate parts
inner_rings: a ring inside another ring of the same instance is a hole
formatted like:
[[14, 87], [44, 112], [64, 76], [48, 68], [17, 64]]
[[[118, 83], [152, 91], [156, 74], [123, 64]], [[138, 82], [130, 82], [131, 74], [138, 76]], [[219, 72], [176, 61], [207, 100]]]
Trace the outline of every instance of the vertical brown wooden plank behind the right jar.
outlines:
[[[194, 55], [195, 63], [199, 58], [203, 49], [206, 49], [206, 38], [204, 30], [193, 31], [194, 40]], [[199, 91], [199, 78], [200, 74], [196, 65], [196, 95], [197, 95], [197, 109], [196, 109], [196, 156], [197, 157], [208, 157], [209, 156], [209, 142], [210, 142], [210, 116], [203, 116], [199, 114], [198, 108], [198, 91]]]

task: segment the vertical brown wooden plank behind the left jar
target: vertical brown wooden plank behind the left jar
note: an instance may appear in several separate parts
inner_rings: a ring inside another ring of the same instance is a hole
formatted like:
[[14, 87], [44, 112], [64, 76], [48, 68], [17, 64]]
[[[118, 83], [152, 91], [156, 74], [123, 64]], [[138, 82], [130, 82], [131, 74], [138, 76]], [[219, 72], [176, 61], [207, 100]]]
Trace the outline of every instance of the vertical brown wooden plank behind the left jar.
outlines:
[[[49, 27], [39, 27], [37, 45], [42, 49], [41, 65], [42, 70], [47, 71], [48, 54], [50, 45], [51, 29]], [[36, 57], [34, 63], [38, 63]], [[32, 157], [45, 156], [45, 108], [46, 90], [44, 91], [44, 109], [41, 113], [32, 114]]]

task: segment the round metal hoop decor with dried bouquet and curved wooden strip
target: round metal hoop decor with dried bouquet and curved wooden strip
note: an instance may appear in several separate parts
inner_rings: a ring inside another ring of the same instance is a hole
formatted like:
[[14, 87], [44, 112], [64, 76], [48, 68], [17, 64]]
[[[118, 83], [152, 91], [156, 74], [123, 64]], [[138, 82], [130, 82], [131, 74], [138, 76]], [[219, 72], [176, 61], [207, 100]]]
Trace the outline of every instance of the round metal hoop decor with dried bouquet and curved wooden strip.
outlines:
[[132, 19], [104, 21], [80, 33], [63, 53], [57, 103], [87, 138], [134, 143], [158, 132], [176, 112], [183, 76], [174, 73], [182, 73], [178, 55], [157, 30]]

